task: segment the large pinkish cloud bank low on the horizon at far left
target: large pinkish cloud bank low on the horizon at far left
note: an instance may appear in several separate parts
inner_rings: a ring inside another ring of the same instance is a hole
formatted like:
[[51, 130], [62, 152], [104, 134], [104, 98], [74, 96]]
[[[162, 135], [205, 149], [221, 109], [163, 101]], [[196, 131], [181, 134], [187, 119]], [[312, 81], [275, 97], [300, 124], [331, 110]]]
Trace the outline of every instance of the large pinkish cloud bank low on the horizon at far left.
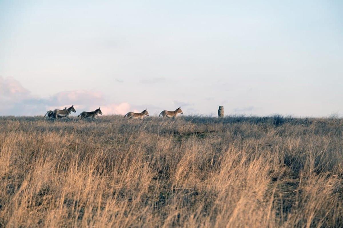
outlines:
[[74, 105], [77, 113], [93, 111], [100, 107], [104, 115], [123, 115], [130, 109], [128, 103], [107, 100], [97, 91], [61, 91], [47, 99], [38, 98], [25, 89], [19, 81], [0, 76], [0, 116], [44, 115], [47, 110], [68, 108], [71, 105]]

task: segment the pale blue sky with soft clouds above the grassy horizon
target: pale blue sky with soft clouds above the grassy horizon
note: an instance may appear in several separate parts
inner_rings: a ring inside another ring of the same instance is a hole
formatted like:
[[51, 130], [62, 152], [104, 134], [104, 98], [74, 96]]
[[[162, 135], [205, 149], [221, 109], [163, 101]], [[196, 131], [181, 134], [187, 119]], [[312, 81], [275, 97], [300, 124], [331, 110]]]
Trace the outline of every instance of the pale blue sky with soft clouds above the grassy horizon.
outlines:
[[343, 114], [343, 1], [0, 0], [0, 116]]

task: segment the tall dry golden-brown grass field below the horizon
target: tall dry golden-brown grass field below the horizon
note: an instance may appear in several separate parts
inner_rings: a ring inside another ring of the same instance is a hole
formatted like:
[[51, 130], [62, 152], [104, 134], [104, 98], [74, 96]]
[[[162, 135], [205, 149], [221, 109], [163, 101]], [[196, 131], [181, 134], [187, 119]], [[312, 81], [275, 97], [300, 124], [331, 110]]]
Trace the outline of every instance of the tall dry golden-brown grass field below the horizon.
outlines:
[[0, 117], [0, 227], [343, 227], [343, 120]]

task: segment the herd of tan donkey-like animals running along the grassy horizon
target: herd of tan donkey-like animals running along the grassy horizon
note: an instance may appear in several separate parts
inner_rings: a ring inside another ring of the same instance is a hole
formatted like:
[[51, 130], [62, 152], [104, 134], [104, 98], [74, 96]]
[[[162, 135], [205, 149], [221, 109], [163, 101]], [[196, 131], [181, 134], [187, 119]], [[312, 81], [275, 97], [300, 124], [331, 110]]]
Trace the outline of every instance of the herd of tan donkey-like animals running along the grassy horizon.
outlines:
[[[64, 108], [63, 110], [61, 110], [61, 109], [49, 110], [45, 113], [44, 116], [47, 116], [48, 118], [53, 118], [53, 119], [58, 119], [58, 118], [63, 118], [63, 117], [67, 117], [69, 119], [68, 116], [71, 112], [76, 112], [74, 105], [72, 105], [69, 108]], [[163, 110], [161, 113], [159, 113], [159, 117], [175, 118], [178, 113], [184, 114], [184, 112], [182, 112], [182, 110], [181, 110], [181, 107], [177, 108], [175, 111]], [[78, 117], [81, 116], [81, 120], [84, 118], [86, 118], [86, 119], [97, 119], [98, 114], [103, 115], [103, 113], [100, 110], [100, 107], [98, 109], [96, 109], [95, 111], [91, 111], [91, 112], [83, 111], [80, 113], [80, 115]], [[144, 116], [149, 116], [149, 112], [146, 109], [140, 113], [128, 112], [128, 113], [126, 113], [124, 118], [127, 117], [130, 119], [143, 119]]]

